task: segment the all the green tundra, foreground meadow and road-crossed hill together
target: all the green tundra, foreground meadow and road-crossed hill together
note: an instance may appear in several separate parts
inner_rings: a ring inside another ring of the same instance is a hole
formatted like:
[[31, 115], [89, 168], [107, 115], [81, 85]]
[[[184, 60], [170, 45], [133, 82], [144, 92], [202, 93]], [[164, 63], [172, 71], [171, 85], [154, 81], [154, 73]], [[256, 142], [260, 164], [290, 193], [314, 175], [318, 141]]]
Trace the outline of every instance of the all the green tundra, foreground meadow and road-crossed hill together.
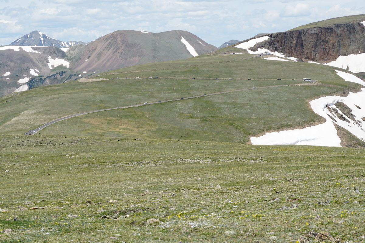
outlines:
[[0, 97], [0, 242], [361, 242], [361, 144], [247, 144], [322, 122], [335, 69], [227, 47]]

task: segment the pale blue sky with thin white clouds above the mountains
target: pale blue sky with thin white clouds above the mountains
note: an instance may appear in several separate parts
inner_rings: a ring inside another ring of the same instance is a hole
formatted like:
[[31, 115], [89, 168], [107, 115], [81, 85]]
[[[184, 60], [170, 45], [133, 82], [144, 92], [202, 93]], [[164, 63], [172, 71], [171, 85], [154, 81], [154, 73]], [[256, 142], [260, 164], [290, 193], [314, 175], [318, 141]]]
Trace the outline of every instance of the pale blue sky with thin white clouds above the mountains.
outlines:
[[357, 14], [363, 0], [0, 0], [0, 46], [34, 30], [83, 42], [116, 30], [184, 30], [218, 47]]

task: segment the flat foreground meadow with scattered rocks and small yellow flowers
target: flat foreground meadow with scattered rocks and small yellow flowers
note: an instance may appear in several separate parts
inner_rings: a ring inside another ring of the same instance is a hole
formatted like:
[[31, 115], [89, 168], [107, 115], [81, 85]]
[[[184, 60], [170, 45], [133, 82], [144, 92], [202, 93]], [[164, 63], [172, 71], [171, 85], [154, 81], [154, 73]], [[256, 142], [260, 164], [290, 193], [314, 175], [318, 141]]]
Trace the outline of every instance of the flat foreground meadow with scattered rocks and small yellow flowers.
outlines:
[[0, 136], [0, 154], [1, 242], [364, 235], [361, 149], [36, 134]]

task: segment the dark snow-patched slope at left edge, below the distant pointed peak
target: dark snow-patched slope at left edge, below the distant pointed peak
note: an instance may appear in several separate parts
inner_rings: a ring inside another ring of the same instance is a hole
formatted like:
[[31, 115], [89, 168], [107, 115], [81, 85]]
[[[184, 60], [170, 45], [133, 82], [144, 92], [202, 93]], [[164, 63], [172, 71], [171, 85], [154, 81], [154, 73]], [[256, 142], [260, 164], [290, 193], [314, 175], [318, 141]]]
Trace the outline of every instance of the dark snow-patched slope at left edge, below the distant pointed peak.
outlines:
[[0, 96], [74, 77], [65, 56], [55, 47], [0, 47]]

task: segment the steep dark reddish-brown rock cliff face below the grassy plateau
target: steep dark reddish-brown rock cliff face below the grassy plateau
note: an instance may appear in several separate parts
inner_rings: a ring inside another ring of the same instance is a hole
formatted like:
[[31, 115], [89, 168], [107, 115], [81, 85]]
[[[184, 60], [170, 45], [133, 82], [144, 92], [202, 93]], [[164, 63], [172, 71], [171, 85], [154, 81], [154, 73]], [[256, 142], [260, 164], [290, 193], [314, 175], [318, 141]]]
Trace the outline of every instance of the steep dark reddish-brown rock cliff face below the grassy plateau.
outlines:
[[333, 60], [339, 56], [365, 52], [365, 26], [360, 21], [306, 28], [267, 35], [271, 39], [250, 48], [265, 48], [314, 61]]

